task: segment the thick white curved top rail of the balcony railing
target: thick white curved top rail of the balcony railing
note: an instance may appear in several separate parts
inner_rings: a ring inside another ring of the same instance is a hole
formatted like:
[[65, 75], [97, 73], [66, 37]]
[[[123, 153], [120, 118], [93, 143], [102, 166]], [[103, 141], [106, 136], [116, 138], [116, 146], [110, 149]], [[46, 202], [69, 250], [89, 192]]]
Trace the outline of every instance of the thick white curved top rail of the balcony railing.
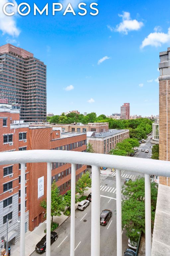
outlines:
[[96, 165], [170, 177], [170, 161], [64, 150], [27, 150], [0, 153], [0, 165], [35, 162]]

